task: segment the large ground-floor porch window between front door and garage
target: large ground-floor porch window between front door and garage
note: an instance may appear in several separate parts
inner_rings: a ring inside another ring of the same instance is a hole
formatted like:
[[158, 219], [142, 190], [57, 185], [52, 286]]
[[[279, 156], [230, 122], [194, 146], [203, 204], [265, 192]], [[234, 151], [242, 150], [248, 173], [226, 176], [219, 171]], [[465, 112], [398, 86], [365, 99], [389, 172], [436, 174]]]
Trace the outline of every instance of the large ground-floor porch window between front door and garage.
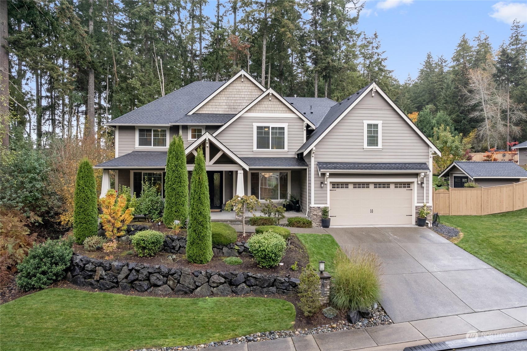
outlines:
[[251, 195], [260, 200], [285, 200], [288, 172], [251, 172]]

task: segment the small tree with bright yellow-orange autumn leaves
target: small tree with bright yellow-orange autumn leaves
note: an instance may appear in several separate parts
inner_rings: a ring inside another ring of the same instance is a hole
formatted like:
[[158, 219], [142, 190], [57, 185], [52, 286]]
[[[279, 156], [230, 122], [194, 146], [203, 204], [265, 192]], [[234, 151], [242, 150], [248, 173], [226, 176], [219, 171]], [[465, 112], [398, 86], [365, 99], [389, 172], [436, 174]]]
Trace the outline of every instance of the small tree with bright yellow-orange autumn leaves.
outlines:
[[[103, 244], [104, 252], [112, 252], [117, 248], [116, 238], [119, 235], [126, 233], [126, 226], [133, 219], [133, 208], [126, 209], [126, 197], [120, 195], [117, 197], [115, 190], [110, 189], [106, 196], [101, 199], [102, 214], [101, 218], [102, 228], [105, 230], [108, 242]], [[106, 257], [112, 259], [113, 255]]]

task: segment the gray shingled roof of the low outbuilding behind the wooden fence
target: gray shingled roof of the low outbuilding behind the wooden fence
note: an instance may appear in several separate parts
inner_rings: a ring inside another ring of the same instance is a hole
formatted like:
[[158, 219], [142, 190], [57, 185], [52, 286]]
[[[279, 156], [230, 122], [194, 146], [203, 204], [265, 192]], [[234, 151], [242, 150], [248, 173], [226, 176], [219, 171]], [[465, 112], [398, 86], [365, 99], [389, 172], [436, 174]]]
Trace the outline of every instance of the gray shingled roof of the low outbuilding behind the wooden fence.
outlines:
[[454, 161], [439, 177], [454, 165], [470, 178], [527, 178], [527, 171], [512, 161]]

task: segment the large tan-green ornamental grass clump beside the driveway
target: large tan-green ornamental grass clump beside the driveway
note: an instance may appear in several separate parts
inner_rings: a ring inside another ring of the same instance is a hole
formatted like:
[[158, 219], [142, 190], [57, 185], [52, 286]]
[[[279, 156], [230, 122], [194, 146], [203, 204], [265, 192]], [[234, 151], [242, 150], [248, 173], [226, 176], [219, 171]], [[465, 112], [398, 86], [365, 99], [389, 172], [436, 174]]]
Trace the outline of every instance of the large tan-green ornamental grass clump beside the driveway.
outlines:
[[339, 310], [362, 309], [380, 299], [380, 261], [373, 252], [341, 249], [335, 255], [329, 301]]

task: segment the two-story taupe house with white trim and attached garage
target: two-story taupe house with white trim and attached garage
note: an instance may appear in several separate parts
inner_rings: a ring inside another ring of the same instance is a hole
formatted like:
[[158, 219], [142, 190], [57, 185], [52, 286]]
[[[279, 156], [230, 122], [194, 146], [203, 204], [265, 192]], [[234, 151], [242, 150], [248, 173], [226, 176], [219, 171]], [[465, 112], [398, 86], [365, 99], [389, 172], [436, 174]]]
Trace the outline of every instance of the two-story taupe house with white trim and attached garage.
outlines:
[[108, 124], [115, 158], [95, 166], [103, 188], [113, 170], [115, 187], [139, 195], [148, 180], [163, 194], [168, 145], [181, 134], [189, 171], [203, 148], [211, 208], [235, 194], [294, 194], [314, 225], [324, 206], [332, 226], [415, 223], [432, 202], [432, 155], [440, 154], [375, 83], [341, 102], [284, 98], [245, 71], [191, 83]]

